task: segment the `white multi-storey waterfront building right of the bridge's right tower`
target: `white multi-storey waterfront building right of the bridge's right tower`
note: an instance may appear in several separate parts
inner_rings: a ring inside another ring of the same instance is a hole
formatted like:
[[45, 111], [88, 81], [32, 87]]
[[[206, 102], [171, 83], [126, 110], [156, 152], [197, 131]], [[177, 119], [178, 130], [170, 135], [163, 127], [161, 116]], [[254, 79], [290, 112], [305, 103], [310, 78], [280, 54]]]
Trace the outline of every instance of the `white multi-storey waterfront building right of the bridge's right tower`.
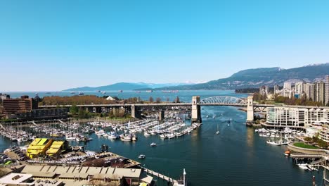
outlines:
[[309, 127], [316, 123], [329, 123], [329, 109], [301, 109], [296, 107], [272, 107], [266, 112], [270, 125]]

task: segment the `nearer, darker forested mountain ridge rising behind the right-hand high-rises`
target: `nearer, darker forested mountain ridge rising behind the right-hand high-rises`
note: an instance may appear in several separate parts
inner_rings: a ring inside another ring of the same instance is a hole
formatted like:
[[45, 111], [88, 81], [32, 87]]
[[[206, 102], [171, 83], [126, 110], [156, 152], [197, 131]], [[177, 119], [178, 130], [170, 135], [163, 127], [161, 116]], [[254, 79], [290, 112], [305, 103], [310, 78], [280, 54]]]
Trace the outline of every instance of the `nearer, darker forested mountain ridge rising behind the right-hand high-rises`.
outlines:
[[329, 63], [302, 66], [299, 68], [283, 69], [254, 68], [241, 70], [231, 77], [213, 80], [196, 85], [181, 85], [176, 87], [162, 87], [161, 89], [243, 89], [257, 88], [262, 85], [273, 87], [283, 85], [283, 82], [316, 82], [329, 75]]

